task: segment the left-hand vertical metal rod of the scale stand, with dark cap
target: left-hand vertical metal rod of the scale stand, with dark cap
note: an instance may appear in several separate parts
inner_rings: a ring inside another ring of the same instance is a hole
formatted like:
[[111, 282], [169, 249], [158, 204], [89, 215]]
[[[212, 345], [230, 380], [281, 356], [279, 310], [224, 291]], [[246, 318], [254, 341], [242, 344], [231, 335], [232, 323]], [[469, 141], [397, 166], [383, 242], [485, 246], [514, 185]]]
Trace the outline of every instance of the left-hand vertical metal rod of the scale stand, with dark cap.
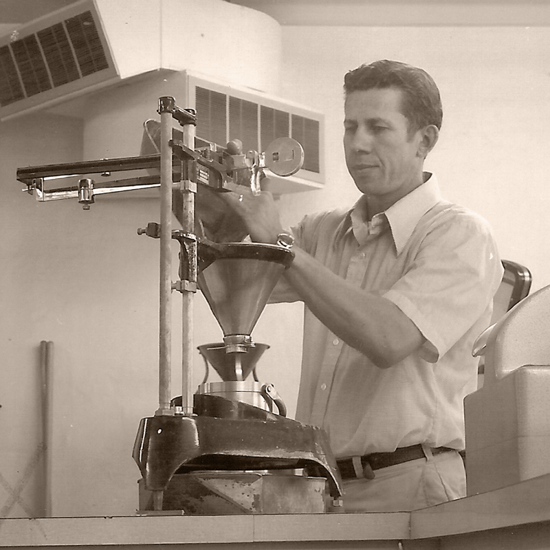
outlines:
[[[170, 101], [171, 100], [171, 101]], [[160, 114], [160, 285], [159, 285], [159, 414], [170, 408], [172, 292], [172, 113], [174, 98], [159, 98]]]

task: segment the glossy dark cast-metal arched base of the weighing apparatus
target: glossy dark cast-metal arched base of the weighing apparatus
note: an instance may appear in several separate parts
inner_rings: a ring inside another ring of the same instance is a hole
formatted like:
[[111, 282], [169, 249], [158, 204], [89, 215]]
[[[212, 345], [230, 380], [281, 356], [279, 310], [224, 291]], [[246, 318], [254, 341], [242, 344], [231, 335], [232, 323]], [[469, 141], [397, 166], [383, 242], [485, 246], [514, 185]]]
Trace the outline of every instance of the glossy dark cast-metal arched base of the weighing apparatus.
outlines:
[[[217, 395], [195, 395], [195, 415], [157, 415], [140, 422], [133, 458], [153, 509], [175, 475], [193, 472], [293, 472], [328, 482], [335, 499], [342, 480], [321, 428]], [[302, 477], [302, 476], [298, 476]]]

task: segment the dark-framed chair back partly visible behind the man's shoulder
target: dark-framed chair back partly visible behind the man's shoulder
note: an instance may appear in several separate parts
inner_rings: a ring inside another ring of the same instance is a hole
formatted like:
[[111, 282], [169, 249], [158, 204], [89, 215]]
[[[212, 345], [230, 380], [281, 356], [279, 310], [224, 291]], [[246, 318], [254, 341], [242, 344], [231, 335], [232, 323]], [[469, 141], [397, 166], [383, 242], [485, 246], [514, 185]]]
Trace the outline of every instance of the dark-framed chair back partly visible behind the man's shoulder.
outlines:
[[[507, 311], [520, 302], [520, 300], [523, 300], [531, 289], [531, 272], [527, 267], [510, 260], [503, 260], [502, 262], [504, 275], [494, 295], [491, 325], [494, 325]], [[478, 388], [483, 386], [484, 373], [485, 363], [482, 356], [478, 366]]]

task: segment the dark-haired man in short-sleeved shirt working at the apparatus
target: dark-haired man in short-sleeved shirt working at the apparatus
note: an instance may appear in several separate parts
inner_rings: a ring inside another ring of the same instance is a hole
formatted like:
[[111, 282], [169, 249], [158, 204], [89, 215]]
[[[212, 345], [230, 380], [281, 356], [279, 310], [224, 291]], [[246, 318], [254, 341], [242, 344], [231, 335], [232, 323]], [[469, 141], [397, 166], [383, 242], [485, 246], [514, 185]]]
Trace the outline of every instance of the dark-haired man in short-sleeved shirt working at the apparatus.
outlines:
[[[345, 511], [417, 509], [465, 496], [472, 344], [503, 271], [487, 222], [441, 199], [423, 171], [442, 119], [432, 78], [377, 61], [349, 72], [344, 91], [362, 196], [292, 230], [296, 257], [273, 300], [305, 303], [296, 419], [327, 431]], [[253, 241], [289, 244], [270, 193], [227, 200]]]

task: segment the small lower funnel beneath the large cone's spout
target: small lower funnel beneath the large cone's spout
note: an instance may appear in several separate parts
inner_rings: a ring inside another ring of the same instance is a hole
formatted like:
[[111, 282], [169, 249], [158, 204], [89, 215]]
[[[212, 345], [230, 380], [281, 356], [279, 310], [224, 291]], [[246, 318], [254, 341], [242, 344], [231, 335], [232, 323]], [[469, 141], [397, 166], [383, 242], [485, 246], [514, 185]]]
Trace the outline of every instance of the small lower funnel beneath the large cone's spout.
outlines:
[[203, 344], [198, 349], [221, 380], [230, 382], [246, 380], [268, 348], [267, 344], [252, 344], [245, 353], [226, 353], [225, 344]]

